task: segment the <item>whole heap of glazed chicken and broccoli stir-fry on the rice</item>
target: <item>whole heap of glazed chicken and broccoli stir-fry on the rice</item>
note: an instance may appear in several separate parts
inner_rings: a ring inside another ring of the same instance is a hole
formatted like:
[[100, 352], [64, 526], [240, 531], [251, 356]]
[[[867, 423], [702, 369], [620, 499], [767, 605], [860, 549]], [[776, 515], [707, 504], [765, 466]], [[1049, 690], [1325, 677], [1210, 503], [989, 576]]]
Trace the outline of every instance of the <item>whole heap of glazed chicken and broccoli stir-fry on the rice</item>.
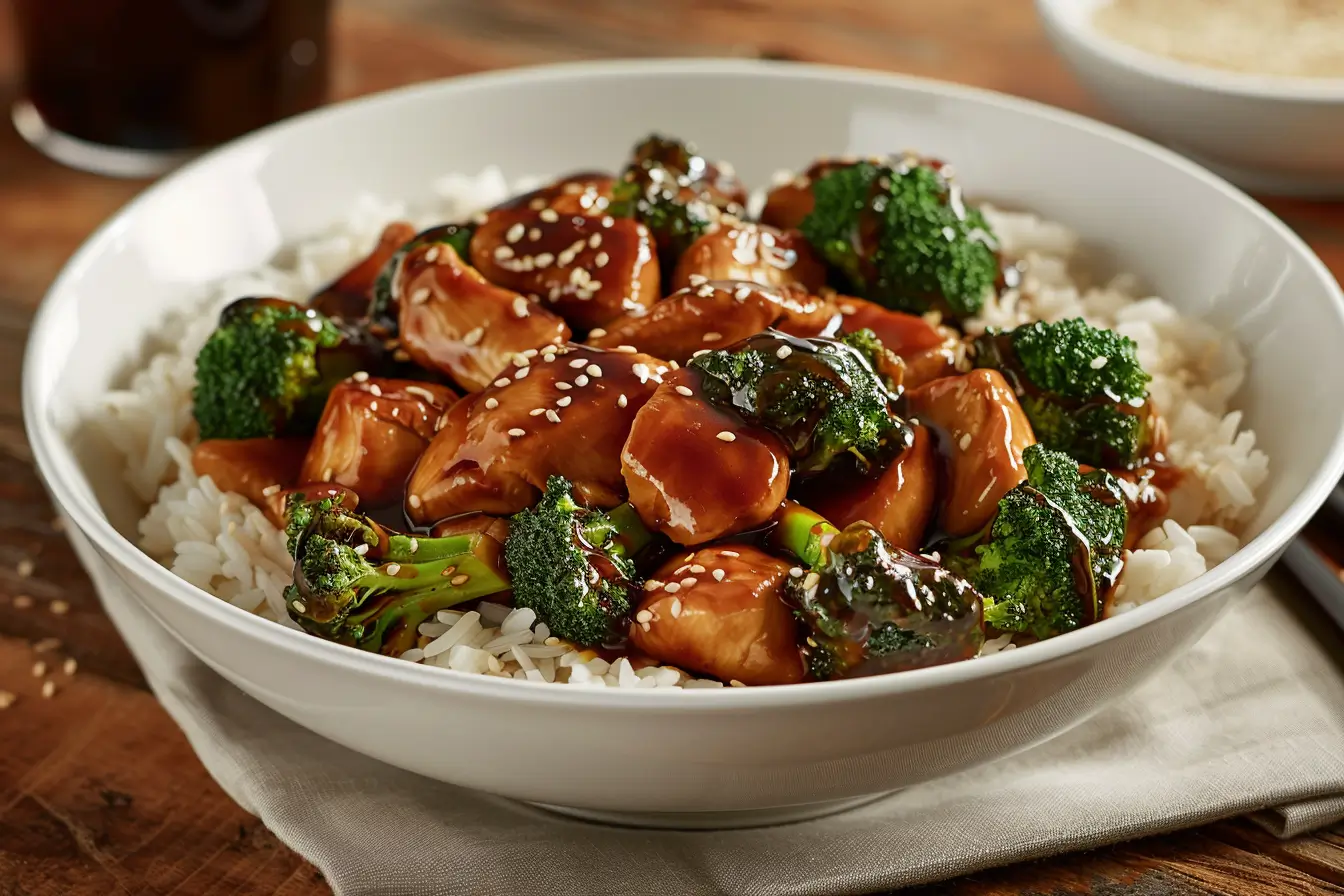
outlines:
[[747, 685], [1102, 618], [1167, 469], [1134, 344], [965, 334], [1017, 271], [938, 161], [823, 160], [747, 204], [649, 137], [394, 223], [306, 306], [233, 304], [194, 462], [286, 529], [290, 617], [401, 656], [489, 600]]

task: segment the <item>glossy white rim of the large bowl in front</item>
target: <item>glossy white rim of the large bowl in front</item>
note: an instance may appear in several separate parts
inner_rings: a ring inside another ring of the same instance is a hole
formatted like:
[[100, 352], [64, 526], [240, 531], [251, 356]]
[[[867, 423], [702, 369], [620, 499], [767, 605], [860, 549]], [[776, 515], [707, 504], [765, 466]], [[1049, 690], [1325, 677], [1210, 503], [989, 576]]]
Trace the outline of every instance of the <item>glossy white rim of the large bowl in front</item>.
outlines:
[[[43, 298], [30, 330], [23, 361], [23, 416], [30, 443], [34, 447], [36, 466], [52, 500], [81, 532], [103, 553], [124, 564], [136, 578], [160, 595], [184, 604], [188, 613], [204, 615], [212, 625], [227, 629], [231, 635], [241, 637], [265, 649], [292, 652], [296, 661], [333, 665], [355, 673], [367, 674], [396, 682], [405, 688], [425, 692], [461, 692], [464, 697], [512, 700], [523, 704], [546, 707], [573, 707], [586, 712], [610, 712], [637, 708], [650, 712], [739, 712], [746, 708], [781, 708], [808, 705], [818, 700], [862, 701], [876, 697], [890, 697], [923, 689], [954, 686], [980, 678], [1011, 673], [1027, 666], [1044, 665], [1063, 657], [1077, 654], [1101, 642], [1120, 638], [1140, 627], [1177, 613], [1179, 610], [1211, 596], [1257, 570], [1267, 566], [1284, 549], [1310, 516], [1324, 502], [1331, 488], [1344, 474], [1344, 427], [1336, 433], [1329, 451], [1321, 458], [1316, 473], [1293, 498], [1284, 513], [1273, 520], [1263, 532], [1242, 545], [1231, 557], [1214, 567], [1200, 578], [1168, 594], [1136, 607], [1118, 617], [1083, 629], [1059, 635], [1030, 647], [1004, 650], [974, 662], [953, 662], [926, 669], [913, 669], [898, 674], [872, 676], [843, 681], [801, 682], [766, 688], [586, 688], [554, 686], [544, 682], [503, 680], [492, 676], [474, 676], [452, 670], [426, 668], [419, 664], [403, 662], [394, 657], [366, 653], [343, 645], [331, 643], [306, 633], [289, 629], [263, 619], [247, 610], [235, 607], [227, 600], [208, 595], [196, 586], [177, 578], [167, 567], [160, 566], [129, 539], [116, 531], [102, 513], [91, 494], [66, 480], [62, 461], [63, 438], [56, 430], [47, 407], [39, 400], [36, 383], [40, 371], [52, 361], [48, 356], [60, 343], [56, 324], [60, 310], [74, 301], [78, 293], [75, 285], [85, 270], [112, 244], [125, 220], [134, 216], [142, 207], [171, 193], [180, 180], [196, 176], [219, 163], [222, 159], [263, 146], [278, 134], [290, 133], [306, 126], [313, 120], [347, 118], [356, 122], [362, 110], [372, 106], [414, 105], [425, 97], [452, 97], [474, 90], [497, 87], [527, 87], [536, 81], [564, 79], [575, 83], [590, 81], [621, 79], [630, 77], [723, 77], [723, 78], [785, 78], [836, 85], [876, 86], [884, 90], [939, 97], [960, 102], [972, 102], [997, 109], [1007, 109], [1038, 120], [1052, 121], [1074, 129], [1089, 132], [1111, 142], [1120, 142], [1130, 149], [1171, 165], [1189, 177], [1203, 181], [1232, 201], [1242, 206], [1270, 232], [1285, 240], [1306, 265], [1306, 270], [1320, 281], [1331, 298], [1329, 308], [1344, 328], [1344, 292], [1317, 258], [1310, 247], [1278, 218], [1265, 210], [1250, 196], [1232, 187], [1216, 175], [1195, 163], [1142, 137], [1120, 128], [1106, 125], [1077, 113], [1064, 111], [1044, 103], [1011, 97], [997, 91], [953, 85], [942, 81], [868, 71], [841, 66], [821, 66], [793, 62], [770, 62], [754, 59], [617, 59], [601, 62], [556, 63], [528, 66], [504, 71], [489, 71], [465, 77], [446, 78], [427, 83], [411, 85], [390, 91], [376, 93], [356, 99], [333, 103], [323, 109], [270, 125], [218, 149], [206, 153], [177, 172], [148, 187], [112, 218], [103, 222], [66, 262]], [[184, 293], [185, 294], [185, 293]], [[1324, 309], [1321, 313], [1327, 313]], [[124, 574], [117, 570], [118, 575]], [[128, 583], [146, 607], [149, 602], [140, 596], [137, 587]], [[160, 617], [159, 611], [155, 611]], [[161, 617], [160, 617], [161, 618]], [[179, 639], [183, 639], [180, 635]], [[185, 643], [185, 639], [183, 639]], [[194, 646], [187, 643], [188, 647]], [[195, 649], [194, 649], [195, 652]], [[594, 693], [601, 692], [601, 693]], [[653, 692], [661, 697], [648, 697]]]

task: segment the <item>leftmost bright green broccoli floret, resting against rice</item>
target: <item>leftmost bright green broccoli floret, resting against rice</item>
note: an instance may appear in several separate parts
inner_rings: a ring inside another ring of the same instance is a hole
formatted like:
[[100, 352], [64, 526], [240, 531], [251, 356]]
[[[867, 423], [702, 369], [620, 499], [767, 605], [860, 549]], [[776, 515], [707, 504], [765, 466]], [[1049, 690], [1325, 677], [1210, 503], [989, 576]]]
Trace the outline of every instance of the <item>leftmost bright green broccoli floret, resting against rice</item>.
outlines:
[[367, 352], [310, 308], [241, 298], [196, 355], [192, 412], [202, 439], [251, 439], [313, 431], [336, 383]]

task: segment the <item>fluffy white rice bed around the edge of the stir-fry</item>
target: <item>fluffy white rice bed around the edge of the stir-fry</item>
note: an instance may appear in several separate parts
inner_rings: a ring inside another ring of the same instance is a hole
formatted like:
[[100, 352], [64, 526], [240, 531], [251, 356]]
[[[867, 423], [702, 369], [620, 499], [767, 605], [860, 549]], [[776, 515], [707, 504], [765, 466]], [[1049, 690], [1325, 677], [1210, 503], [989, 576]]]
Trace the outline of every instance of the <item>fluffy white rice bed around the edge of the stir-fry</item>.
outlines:
[[[417, 227], [468, 218], [535, 180], [512, 187], [489, 168], [453, 175], [434, 184], [435, 203], [410, 215], [396, 203], [362, 199], [347, 220], [294, 247], [281, 262], [228, 278], [203, 294], [191, 312], [168, 321], [159, 351], [125, 390], [108, 395], [102, 423], [126, 458], [126, 480], [149, 504], [140, 521], [146, 553], [192, 584], [289, 627], [282, 591], [293, 560], [285, 536], [239, 494], [220, 492], [191, 467], [191, 391], [195, 357], [219, 310], [253, 294], [305, 301], [370, 251], [383, 226], [409, 219]], [[1132, 277], [1085, 286], [1079, 240], [1066, 227], [1034, 215], [991, 207], [984, 212], [1009, 258], [1027, 263], [1019, 290], [993, 300], [968, 329], [1013, 326], [1027, 320], [1085, 317], [1138, 344], [1153, 375], [1153, 400], [1168, 422], [1169, 458], [1185, 470], [1171, 493], [1171, 519], [1146, 533], [1126, 555], [1111, 614], [1191, 582], [1236, 547], [1235, 531], [1255, 505], [1269, 459], [1255, 434], [1241, 427], [1228, 403], [1246, 375], [1235, 344], [1210, 324], [1181, 317], [1171, 305], [1137, 290]], [[621, 657], [609, 664], [589, 650], [551, 638], [532, 610], [481, 603], [476, 610], [441, 611], [421, 626], [423, 647], [402, 658], [468, 674], [487, 674], [577, 686], [719, 688], [672, 666], [636, 670]], [[1012, 649], [1011, 637], [988, 641], [981, 656]]]

